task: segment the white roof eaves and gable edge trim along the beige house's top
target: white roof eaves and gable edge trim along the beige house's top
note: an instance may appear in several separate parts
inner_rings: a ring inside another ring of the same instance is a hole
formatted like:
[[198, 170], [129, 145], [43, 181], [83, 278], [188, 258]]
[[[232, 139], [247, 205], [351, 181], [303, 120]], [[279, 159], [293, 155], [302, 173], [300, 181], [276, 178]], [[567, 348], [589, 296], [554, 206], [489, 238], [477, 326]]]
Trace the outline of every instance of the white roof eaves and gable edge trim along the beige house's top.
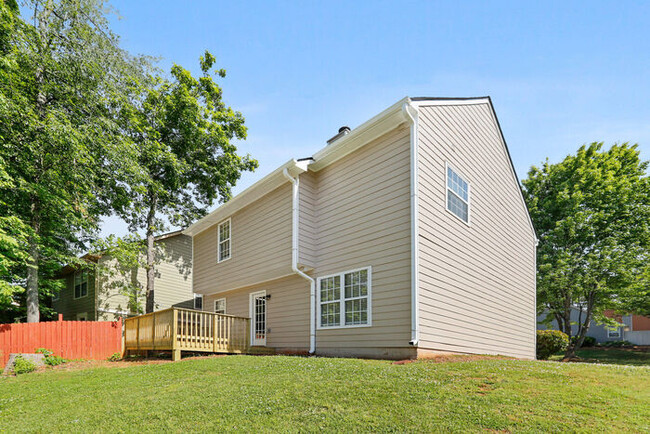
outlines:
[[269, 173], [259, 181], [257, 181], [252, 186], [248, 187], [228, 202], [219, 206], [217, 209], [212, 211], [207, 216], [198, 220], [197, 222], [190, 225], [187, 229], [183, 231], [184, 234], [195, 236], [200, 232], [208, 229], [214, 224], [221, 222], [222, 220], [228, 218], [230, 215], [234, 214], [236, 211], [242, 209], [243, 207], [251, 204], [255, 200], [263, 197], [272, 190], [278, 188], [280, 185], [287, 182], [286, 178], [282, 175], [284, 169], [287, 169], [292, 176], [296, 176], [302, 172], [310, 170], [312, 172], [318, 172], [319, 170], [327, 167], [335, 161], [345, 157], [346, 155], [356, 151], [362, 146], [368, 144], [372, 140], [386, 134], [387, 132], [399, 127], [402, 124], [409, 122], [410, 118], [405, 111], [407, 104], [432, 102], [438, 104], [445, 103], [487, 103], [492, 110], [492, 114], [496, 119], [496, 123], [499, 129], [499, 135], [501, 137], [501, 142], [505, 147], [506, 154], [510, 162], [510, 168], [514, 176], [514, 180], [519, 188], [521, 194], [522, 203], [530, 223], [530, 227], [537, 238], [535, 227], [533, 222], [530, 219], [530, 213], [528, 212], [528, 207], [524, 200], [523, 192], [521, 190], [521, 184], [519, 183], [519, 178], [515, 171], [515, 167], [512, 163], [512, 157], [510, 156], [510, 151], [508, 145], [506, 144], [505, 138], [503, 137], [503, 131], [501, 130], [501, 125], [494, 111], [494, 106], [492, 100], [489, 96], [483, 97], [404, 97], [401, 100], [397, 101], [395, 104], [391, 105], [381, 113], [367, 120], [363, 124], [351, 130], [348, 134], [337, 139], [335, 142], [325, 146], [320, 151], [316, 152], [313, 157], [302, 158], [299, 160], [289, 160], [287, 163], [283, 164], [273, 172]]

